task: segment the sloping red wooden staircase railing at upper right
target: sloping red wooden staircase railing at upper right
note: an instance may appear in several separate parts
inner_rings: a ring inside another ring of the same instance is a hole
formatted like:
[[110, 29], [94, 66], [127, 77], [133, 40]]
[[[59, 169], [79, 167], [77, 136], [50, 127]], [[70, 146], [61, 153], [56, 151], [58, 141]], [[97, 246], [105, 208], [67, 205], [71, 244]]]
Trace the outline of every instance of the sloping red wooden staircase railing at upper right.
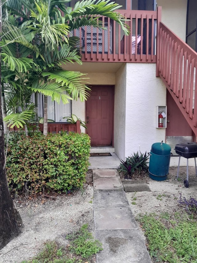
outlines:
[[197, 135], [197, 53], [161, 22], [157, 45], [156, 75]]

